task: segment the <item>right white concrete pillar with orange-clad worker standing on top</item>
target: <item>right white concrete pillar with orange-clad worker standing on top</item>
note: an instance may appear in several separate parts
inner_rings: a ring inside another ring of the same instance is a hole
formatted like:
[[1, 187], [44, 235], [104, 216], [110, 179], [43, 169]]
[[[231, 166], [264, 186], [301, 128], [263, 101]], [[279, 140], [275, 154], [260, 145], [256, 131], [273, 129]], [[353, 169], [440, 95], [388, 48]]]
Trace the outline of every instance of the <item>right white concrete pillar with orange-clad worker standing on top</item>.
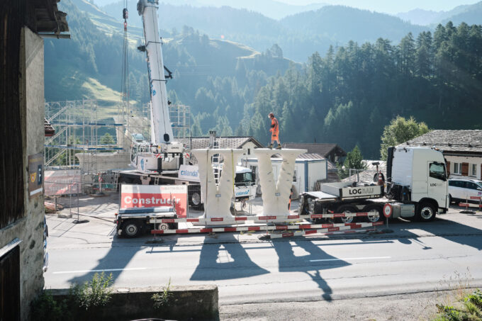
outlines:
[[[263, 198], [263, 216], [289, 215], [288, 201], [293, 184], [296, 157], [303, 153], [306, 153], [306, 150], [271, 150], [267, 148], [254, 150], [259, 165], [259, 184], [261, 185]], [[273, 154], [280, 154], [283, 159], [277, 181], [274, 177], [273, 166], [271, 164], [271, 156]]]

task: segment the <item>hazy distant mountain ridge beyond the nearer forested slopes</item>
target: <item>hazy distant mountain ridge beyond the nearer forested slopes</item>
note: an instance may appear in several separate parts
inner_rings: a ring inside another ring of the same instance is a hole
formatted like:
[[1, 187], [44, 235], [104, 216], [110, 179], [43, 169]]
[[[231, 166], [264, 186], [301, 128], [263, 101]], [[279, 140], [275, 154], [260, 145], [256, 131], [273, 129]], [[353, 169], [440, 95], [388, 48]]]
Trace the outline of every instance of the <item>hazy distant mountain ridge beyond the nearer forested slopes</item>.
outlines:
[[[123, 3], [118, 1], [103, 10], [120, 19]], [[141, 26], [136, 3], [137, 0], [128, 1], [129, 19], [131, 24]], [[313, 52], [325, 52], [330, 45], [344, 45], [349, 40], [364, 43], [382, 37], [398, 41], [409, 32], [417, 35], [428, 30], [394, 16], [345, 6], [324, 6], [277, 21], [261, 13], [228, 6], [174, 6], [159, 1], [159, 28], [179, 31], [183, 26], [195, 28], [211, 38], [223, 36], [259, 52], [277, 44], [285, 57], [296, 62], [306, 62]]]

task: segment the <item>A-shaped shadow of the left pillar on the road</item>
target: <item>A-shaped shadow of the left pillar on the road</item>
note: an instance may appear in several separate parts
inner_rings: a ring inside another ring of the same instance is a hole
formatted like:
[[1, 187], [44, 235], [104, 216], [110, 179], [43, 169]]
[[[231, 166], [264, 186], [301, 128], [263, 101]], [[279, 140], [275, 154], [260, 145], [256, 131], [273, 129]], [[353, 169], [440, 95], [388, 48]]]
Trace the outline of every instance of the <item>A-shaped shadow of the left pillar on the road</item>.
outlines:
[[205, 239], [201, 248], [199, 264], [191, 281], [215, 281], [231, 278], [247, 278], [268, 274], [269, 271], [255, 264], [234, 235], [212, 243]]

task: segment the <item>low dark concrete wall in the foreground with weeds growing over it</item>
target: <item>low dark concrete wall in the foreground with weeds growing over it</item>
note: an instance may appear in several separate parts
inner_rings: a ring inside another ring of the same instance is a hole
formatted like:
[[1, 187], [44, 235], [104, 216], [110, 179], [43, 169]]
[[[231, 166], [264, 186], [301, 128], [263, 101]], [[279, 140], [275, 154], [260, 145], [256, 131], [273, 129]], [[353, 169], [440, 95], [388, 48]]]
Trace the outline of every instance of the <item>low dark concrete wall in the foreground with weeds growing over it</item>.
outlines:
[[[106, 306], [77, 315], [79, 320], [138, 320], [150, 317], [169, 320], [218, 320], [218, 286], [171, 286], [169, 304], [154, 308], [152, 295], [162, 287], [114, 288]], [[55, 300], [69, 300], [69, 289], [47, 290]], [[74, 315], [74, 318], [76, 315]]]

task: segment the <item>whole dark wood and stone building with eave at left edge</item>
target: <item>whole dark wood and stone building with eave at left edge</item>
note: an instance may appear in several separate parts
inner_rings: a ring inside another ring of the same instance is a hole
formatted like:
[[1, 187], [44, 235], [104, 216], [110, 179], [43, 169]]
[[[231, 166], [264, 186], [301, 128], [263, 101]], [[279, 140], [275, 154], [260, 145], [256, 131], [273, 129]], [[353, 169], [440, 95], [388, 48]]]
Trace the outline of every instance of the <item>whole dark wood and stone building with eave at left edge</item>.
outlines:
[[65, 38], [58, 1], [0, 1], [0, 320], [28, 320], [44, 286], [42, 37]]

